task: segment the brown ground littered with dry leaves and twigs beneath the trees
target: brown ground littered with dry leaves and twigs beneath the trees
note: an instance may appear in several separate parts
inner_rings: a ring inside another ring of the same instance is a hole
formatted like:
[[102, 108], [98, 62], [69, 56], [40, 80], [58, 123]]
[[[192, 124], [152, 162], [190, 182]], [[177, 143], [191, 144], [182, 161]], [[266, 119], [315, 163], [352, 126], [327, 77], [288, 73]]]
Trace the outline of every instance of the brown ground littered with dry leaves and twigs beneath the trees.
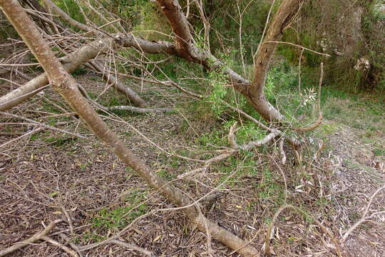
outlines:
[[[100, 93], [96, 88], [104, 86], [93, 76], [79, 81], [94, 94]], [[180, 98], [164, 97], [169, 94], [167, 89], [156, 89], [157, 94], [154, 88], [143, 90], [143, 96], [157, 107], [180, 104]], [[108, 101], [111, 95], [106, 93], [101, 99]], [[190, 101], [183, 99], [184, 104]], [[76, 131], [86, 139], [42, 130], [1, 147], [0, 249], [29, 238], [60, 218], [62, 222], [48, 236], [65, 245], [66, 238], [78, 246], [98, 243], [125, 228], [120, 241], [144, 248], [153, 256], [238, 256], [191, 226], [183, 213], [157, 211], [174, 206], [125, 167], [76, 117], [47, 117], [58, 114], [58, 109], [52, 107], [58, 103], [58, 96], [47, 90], [12, 110], [14, 114]], [[63, 108], [58, 111], [60, 114], [71, 112], [58, 105]], [[49, 111], [47, 106], [56, 111]], [[337, 256], [336, 241], [342, 247], [342, 256], [385, 256], [385, 190], [372, 199], [369, 207], [367, 216], [376, 215], [342, 242], [344, 233], [359, 221], [372, 194], [385, 182], [384, 156], [374, 153], [373, 143], [364, 141], [361, 131], [325, 121], [319, 132], [304, 136], [307, 146], [302, 165], [295, 164], [290, 148], [285, 148], [287, 164], [278, 164], [279, 153], [270, 146], [264, 151], [235, 156], [237, 166], [230, 171], [225, 168], [233, 167], [233, 163], [227, 160], [205, 173], [180, 179], [178, 175], [199, 164], [165, 154], [131, 126], [168, 152], [195, 156], [202, 154], [196, 138], [216, 129], [215, 121], [194, 119], [183, 111], [124, 114], [122, 119], [119, 115], [103, 117], [135, 154], [193, 199], [213, 191], [213, 201], [202, 204], [205, 216], [250, 241], [255, 248], [264, 247], [275, 211], [289, 203], [307, 216], [290, 210], [281, 213], [270, 240], [275, 256]], [[31, 129], [21, 120], [0, 119], [0, 131], [14, 132], [1, 134], [0, 145]], [[15, 124], [5, 124], [9, 122]], [[374, 135], [377, 144], [384, 145], [384, 140], [383, 133]], [[247, 158], [253, 160], [252, 171], [243, 172], [250, 169]], [[265, 172], [267, 168], [269, 173]], [[82, 254], [143, 256], [132, 248], [111, 243]], [[61, 247], [37, 241], [9, 256], [70, 255]]]

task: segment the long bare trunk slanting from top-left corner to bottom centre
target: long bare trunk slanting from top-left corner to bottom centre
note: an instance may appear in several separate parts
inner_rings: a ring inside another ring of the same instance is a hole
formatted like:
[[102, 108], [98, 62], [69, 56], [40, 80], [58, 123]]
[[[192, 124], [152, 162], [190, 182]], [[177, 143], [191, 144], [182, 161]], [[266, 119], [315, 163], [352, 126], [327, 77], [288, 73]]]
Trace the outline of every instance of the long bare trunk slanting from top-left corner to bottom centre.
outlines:
[[225, 231], [217, 226], [216, 223], [208, 221], [207, 218], [202, 216], [198, 207], [192, 204], [190, 198], [157, 176], [144, 161], [135, 156], [135, 154], [125, 146], [116, 133], [108, 129], [108, 126], [103, 122], [101, 117], [98, 116], [96, 111], [88, 104], [88, 101], [83, 98], [81, 92], [78, 91], [76, 81], [66, 72], [61, 62], [56, 59], [53, 51], [48, 47], [46, 41], [44, 41], [43, 37], [39, 34], [36, 26], [31, 19], [29, 19], [29, 16], [17, 0], [0, 0], [0, 7], [3, 9], [9, 21], [14, 25], [16, 31], [19, 32], [24, 42], [29, 46], [34, 56], [36, 56], [41, 66], [43, 66], [48, 80], [53, 85], [53, 89], [63, 96], [71, 108], [86, 122], [93, 133], [95, 133], [101, 141], [106, 143], [120, 160], [133, 168], [150, 186], [163, 193], [163, 196], [175, 203], [175, 205], [180, 207], [185, 206], [183, 212], [197, 224], [197, 227], [201, 231], [210, 233], [213, 238], [225, 243], [243, 256], [259, 256], [258, 251], [247, 242], [242, 241], [242, 239]]

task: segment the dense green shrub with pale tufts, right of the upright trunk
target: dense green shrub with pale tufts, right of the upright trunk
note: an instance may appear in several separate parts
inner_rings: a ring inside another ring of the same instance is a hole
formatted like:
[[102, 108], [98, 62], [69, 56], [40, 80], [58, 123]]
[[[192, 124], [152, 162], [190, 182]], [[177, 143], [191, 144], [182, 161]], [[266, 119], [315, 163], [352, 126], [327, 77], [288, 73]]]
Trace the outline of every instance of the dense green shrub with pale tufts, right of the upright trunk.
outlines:
[[[385, 89], [384, 13], [381, 1], [307, 1], [300, 22], [287, 29], [283, 41], [331, 54], [324, 57], [304, 51], [302, 72], [305, 76], [324, 61], [324, 81], [345, 91]], [[349, 15], [348, 15], [349, 14]], [[306, 24], [306, 26], [304, 26]], [[325, 29], [327, 28], [327, 29]], [[290, 62], [297, 64], [299, 49], [278, 46]]]

